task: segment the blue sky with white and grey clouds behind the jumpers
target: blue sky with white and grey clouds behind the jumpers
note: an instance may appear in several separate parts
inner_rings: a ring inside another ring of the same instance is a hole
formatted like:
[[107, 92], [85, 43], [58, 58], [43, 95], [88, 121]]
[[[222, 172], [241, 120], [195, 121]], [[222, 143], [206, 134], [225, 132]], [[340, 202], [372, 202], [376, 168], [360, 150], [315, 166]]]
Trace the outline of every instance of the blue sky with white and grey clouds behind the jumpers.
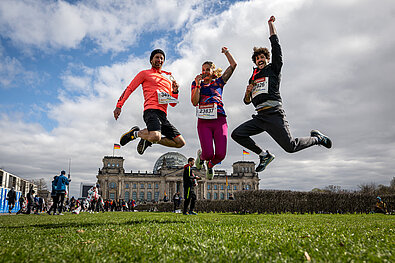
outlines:
[[[115, 3], [113, 3], [115, 2]], [[131, 126], [144, 126], [142, 91], [113, 110], [122, 91], [150, 68], [154, 48], [166, 52], [163, 69], [181, 85], [168, 118], [199, 148], [190, 85], [201, 64], [238, 67], [223, 94], [229, 133], [254, 113], [242, 102], [254, 46], [269, 46], [267, 20], [283, 49], [281, 95], [294, 137], [311, 129], [329, 135], [333, 148], [289, 154], [267, 134], [254, 139], [276, 155], [259, 174], [262, 189], [308, 191], [363, 183], [389, 185], [395, 176], [395, 6], [384, 0], [55, 1], [0, 2], [0, 167], [26, 179], [50, 179], [68, 169], [71, 194], [95, 182], [102, 159]], [[391, 84], [392, 83], [392, 84]], [[391, 121], [392, 120], [392, 121]], [[152, 171], [171, 148], [155, 145], [143, 156], [132, 142], [115, 155], [125, 169]], [[229, 136], [217, 169], [231, 172], [242, 148]], [[257, 161], [251, 153], [245, 160]]]

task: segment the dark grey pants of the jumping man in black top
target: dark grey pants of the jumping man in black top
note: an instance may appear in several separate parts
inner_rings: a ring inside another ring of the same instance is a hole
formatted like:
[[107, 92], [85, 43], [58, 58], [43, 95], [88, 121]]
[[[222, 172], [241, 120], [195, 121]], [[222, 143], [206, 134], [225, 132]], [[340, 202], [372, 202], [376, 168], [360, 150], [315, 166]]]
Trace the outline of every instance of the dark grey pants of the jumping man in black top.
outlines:
[[281, 107], [273, 107], [258, 114], [252, 115], [248, 120], [232, 132], [232, 139], [243, 147], [260, 154], [262, 149], [251, 136], [267, 132], [286, 152], [294, 153], [318, 143], [315, 137], [293, 138], [289, 131], [285, 112]]

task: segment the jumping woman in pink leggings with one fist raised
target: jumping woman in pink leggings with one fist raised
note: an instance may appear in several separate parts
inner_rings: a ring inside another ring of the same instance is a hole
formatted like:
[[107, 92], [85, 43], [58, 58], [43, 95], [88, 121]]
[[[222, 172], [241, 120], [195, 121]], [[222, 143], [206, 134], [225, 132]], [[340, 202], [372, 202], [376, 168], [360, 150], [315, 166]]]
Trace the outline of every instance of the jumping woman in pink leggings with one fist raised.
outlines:
[[213, 167], [226, 156], [228, 124], [222, 102], [222, 92], [237, 66], [226, 47], [222, 48], [222, 53], [225, 54], [230, 64], [224, 74], [221, 76], [222, 70], [216, 69], [213, 62], [206, 61], [202, 65], [202, 74], [196, 76], [191, 88], [191, 101], [193, 106], [197, 106], [197, 130], [201, 147], [197, 153], [196, 168], [201, 169], [206, 161], [206, 177], [209, 180], [214, 177]]

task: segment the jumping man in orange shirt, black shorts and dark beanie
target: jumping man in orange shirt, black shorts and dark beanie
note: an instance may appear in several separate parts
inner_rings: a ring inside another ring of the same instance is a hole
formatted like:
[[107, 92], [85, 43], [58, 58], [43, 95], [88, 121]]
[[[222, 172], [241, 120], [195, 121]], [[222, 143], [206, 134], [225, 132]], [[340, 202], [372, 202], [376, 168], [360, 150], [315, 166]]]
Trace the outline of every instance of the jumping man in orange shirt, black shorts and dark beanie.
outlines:
[[[150, 56], [152, 68], [140, 71], [134, 77], [122, 93], [114, 110], [114, 118], [117, 120], [125, 101], [140, 84], [142, 85], [144, 95], [143, 118], [147, 128], [140, 130], [138, 126], [134, 126], [130, 131], [123, 134], [120, 140], [120, 144], [124, 146], [140, 137], [141, 140], [137, 146], [139, 154], [143, 154], [147, 147], [153, 143], [174, 148], [181, 148], [185, 145], [185, 140], [180, 132], [167, 120], [167, 105], [170, 104], [174, 107], [178, 103], [179, 85], [171, 73], [162, 70], [164, 62], [165, 53], [161, 49], [152, 51]], [[162, 74], [168, 75], [170, 80]]]

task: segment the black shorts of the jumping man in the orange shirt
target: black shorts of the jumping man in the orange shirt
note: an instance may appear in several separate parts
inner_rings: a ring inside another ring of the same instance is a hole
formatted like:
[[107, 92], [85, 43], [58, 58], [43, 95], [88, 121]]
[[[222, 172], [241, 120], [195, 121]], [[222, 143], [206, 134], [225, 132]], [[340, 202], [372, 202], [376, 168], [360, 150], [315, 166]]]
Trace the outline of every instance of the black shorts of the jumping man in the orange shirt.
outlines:
[[181, 133], [174, 127], [161, 110], [148, 109], [144, 111], [143, 118], [148, 131], [159, 131], [168, 139], [174, 139]]

